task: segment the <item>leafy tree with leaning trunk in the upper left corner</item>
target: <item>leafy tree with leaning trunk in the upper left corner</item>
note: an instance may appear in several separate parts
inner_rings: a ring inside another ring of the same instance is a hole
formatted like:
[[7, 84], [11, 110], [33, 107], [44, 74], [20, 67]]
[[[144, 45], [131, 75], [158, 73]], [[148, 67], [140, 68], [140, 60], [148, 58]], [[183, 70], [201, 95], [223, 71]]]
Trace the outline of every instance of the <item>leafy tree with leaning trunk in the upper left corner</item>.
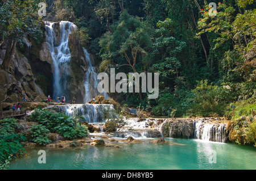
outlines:
[[16, 44], [21, 43], [26, 35], [31, 35], [35, 40], [42, 38], [38, 15], [39, 2], [39, 0], [1, 1], [0, 46], [5, 40], [8, 41], [1, 65], [3, 69], [9, 71]]

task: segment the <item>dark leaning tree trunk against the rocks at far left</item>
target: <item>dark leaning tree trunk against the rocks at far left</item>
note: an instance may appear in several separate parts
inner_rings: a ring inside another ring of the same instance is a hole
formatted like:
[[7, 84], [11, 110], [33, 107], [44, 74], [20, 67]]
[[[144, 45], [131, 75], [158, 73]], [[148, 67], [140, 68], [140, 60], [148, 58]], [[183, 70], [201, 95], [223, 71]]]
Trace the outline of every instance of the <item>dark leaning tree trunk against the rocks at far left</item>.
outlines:
[[8, 40], [6, 52], [5, 52], [5, 58], [3, 58], [3, 63], [2, 63], [2, 67], [6, 71], [10, 70], [11, 58], [14, 55], [14, 52], [16, 49], [16, 43], [17, 43], [17, 41], [13, 41], [13, 39]]

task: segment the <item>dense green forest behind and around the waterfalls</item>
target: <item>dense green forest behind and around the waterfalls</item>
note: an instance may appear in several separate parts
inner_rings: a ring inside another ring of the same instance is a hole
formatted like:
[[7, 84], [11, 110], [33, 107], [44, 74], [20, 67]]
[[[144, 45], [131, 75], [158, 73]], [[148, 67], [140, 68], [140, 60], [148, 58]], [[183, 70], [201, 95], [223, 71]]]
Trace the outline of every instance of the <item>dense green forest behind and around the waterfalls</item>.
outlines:
[[[42, 20], [67, 20], [77, 25], [75, 33], [94, 54], [100, 72], [159, 73], [158, 99], [147, 99], [143, 92], [111, 93], [122, 106], [170, 117], [231, 118], [231, 106], [237, 117], [256, 110], [254, 0], [0, 2], [0, 43], [12, 40], [3, 62], [24, 36], [38, 45], [43, 41]], [[43, 18], [36, 15], [39, 2], [47, 3]]]

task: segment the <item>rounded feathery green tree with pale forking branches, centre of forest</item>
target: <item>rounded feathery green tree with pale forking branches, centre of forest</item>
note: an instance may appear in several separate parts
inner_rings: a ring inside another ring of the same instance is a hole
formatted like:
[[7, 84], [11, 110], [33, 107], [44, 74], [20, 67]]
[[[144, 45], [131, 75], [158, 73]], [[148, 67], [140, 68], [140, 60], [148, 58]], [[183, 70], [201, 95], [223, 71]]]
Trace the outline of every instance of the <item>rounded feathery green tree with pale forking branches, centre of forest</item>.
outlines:
[[[143, 57], [152, 45], [150, 35], [151, 28], [147, 22], [129, 15], [125, 10], [118, 22], [111, 26], [111, 31], [101, 37], [101, 57], [119, 67], [129, 66], [137, 73]], [[142, 99], [141, 92], [139, 95]]]

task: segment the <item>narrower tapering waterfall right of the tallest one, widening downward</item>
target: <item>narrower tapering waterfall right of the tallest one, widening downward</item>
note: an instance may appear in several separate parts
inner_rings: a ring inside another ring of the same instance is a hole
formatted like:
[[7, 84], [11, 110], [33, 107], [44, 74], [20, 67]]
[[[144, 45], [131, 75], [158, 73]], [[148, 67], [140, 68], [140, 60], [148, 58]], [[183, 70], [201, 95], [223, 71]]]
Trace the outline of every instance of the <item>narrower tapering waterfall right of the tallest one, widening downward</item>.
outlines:
[[103, 88], [100, 86], [100, 90], [102, 94], [98, 91], [98, 83], [100, 81], [97, 79], [98, 74], [96, 73], [96, 69], [93, 67], [93, 61], [92, 58], [90, 58], [90, 54], [87, 52], [85, 48], [84, 49], [84, 55], [86, 58], [86, 62], [88, 64], [88, 70], [85, 73], [85, 96], [84, 96], [84, 103], [88, 103], [90, 100], [93, 99], [93, 97], [96, 97], [97, 95], [103, 95], [105, 99], [109, 99], [108, 94], [106, 94], [105, 91], [102, 92]]

